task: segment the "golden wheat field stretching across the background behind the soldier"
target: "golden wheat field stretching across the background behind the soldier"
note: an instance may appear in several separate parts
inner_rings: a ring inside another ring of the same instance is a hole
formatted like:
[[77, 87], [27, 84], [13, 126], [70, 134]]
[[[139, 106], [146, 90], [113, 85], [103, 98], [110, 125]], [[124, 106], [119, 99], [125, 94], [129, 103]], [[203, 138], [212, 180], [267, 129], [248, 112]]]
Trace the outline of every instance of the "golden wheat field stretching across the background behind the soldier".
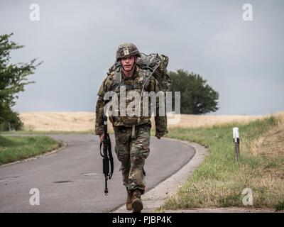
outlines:
[[[23, 121], [23, 129], [27, 131], [94, 131], [94, 116], [92, 112], [26, 112], [20, 114], [21, 121]], [[209, 127], [233, 122], [247, 123], [263, 117], [265, 116], [200, 116], [181, 114], [180, 122], [169, 124], [168, 128]], [[151, 120], [153, 126], [155, 126], [153, 119]]]

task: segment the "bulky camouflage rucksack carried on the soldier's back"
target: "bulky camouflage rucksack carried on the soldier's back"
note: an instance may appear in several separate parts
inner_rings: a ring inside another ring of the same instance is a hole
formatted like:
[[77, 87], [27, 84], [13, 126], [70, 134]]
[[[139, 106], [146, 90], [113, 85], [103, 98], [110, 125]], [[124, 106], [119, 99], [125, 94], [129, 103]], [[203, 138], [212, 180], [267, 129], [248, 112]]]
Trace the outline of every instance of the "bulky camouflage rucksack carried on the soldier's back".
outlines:
[[[141, 53], [141, 57], [138, 57], [136, 64], [143, 70], [154, 71], [152, 76], [158, 81], [160, 91], [169, 92], [171, 81], [167, 70], [168, 61], [169, 59], [165, 55], [159, 55], [158, 53], [146, 55]], [[121, 67], [120, 62], [115, 62], [109, 68], [109, 72], [117, 70], [118, 67]]]

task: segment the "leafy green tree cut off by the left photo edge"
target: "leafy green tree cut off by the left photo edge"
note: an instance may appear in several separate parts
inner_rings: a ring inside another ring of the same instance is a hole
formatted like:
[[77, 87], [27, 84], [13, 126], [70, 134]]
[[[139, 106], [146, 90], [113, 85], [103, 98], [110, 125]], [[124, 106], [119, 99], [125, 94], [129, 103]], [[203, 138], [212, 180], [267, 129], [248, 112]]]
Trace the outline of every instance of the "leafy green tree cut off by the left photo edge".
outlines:
[[0, 35], [0, 130], [21, 128], [21, 120], [12, 107], [16, 104], [18, 93], [25, 90], [25, 85], [33, 83], [27, 81], [27, 76], [42, 63], [35, 65], [33, 59], [30, 63], [11, 64], [11, 50], [23, 48], [23, 45], [9, 40], [11, 35], [13, 33]]

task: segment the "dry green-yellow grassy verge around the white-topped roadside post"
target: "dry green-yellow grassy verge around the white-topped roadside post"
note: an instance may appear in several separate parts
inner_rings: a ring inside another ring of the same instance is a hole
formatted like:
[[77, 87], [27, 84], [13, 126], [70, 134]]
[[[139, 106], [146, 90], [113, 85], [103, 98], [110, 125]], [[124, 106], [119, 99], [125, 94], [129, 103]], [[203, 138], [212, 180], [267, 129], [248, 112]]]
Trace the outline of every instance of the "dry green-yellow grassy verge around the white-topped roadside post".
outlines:
[[171, 130], [168, 137], [200, 143], [209, 148], [209, 155], [161, 209], [242, 207], [246, 188], [252, 190], [253, 208], [284, 209], [283, 155], [252, 152], [256, 141], [266, 138], [279, 124], [280, 118], [271, 116], [239, 125], [240, 163], [235, 160], [232, 139], [232, 127], [238, 125]]

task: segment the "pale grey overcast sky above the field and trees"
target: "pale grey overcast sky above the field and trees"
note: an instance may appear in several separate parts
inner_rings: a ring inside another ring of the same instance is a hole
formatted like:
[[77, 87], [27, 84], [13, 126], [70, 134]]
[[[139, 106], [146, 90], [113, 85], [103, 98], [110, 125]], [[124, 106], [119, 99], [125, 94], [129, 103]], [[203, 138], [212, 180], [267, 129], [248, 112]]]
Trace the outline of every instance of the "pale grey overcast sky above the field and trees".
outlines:
[[[30, 20], [30, 5], [40, 21]], [[244, 4], [253, 21], [244, 21]], [[169, 70], [196, 72], [219, 92], [216, 114], [284, 111], [284, 1], [1, 0], [0, 33], [25, 48], [13, 62], [43, 60], [15, 109], [94, 111], [116, 48], [170, 58]]]

